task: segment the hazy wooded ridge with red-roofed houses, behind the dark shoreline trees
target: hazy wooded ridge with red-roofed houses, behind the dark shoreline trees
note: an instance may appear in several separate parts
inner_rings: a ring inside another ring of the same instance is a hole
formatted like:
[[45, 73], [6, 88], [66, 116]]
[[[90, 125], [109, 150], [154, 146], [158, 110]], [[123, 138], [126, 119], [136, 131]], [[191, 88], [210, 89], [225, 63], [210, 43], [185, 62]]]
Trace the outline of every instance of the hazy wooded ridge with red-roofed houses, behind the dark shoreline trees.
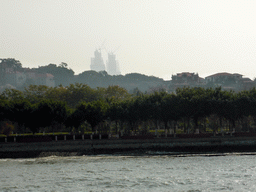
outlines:
[[51, 63], [30, 69], [23, 68], [22, 64], [13, 58], [0, 58], [0, 91], [7, 85], [7, 87], [24, 89], [29, 85], [66, 87], [75, 83], [87, 84], [91, 88], [117, 85], [130, 93], [138, 91], [150, 93], [160, 90], [175, 92], [177, 88], [182, 87], [222, 87], [224, 90], [242, 91], [256, 86], [255, 80], [243, 78], [243, 75], [238, 73], [216, 73], [204, 79], [197, 73], [182, 72], [172, 75], [172, 80], [164, 81], [161, 78], [140, 73], [109, 75], [106, 71], [90, 70], [74, 75], [74, 71], [64, 62], [59, 65]]

